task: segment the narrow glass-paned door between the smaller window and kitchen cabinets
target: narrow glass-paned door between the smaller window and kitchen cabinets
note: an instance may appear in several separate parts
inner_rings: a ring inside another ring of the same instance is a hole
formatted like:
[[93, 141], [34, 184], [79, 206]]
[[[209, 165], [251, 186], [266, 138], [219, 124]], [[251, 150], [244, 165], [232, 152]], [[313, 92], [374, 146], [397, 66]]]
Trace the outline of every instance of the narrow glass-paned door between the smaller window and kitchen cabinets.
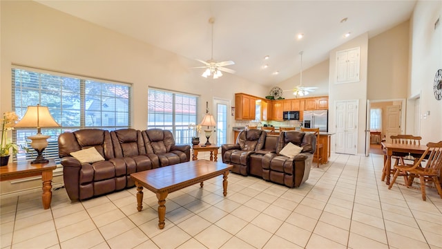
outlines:
[[229, 100], [213, 99], [213, 116], [215, 116], [216, 127], [213, 133], [213, 142], [217, 145], [229, 143]]

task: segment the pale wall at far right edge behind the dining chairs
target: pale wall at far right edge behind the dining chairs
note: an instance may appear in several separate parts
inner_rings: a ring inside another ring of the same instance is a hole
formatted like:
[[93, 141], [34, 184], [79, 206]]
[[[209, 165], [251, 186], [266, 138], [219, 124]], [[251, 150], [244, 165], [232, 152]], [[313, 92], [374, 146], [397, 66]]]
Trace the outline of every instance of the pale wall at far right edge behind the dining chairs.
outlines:
[[[439, 28], [434, 22], [439, 18]], [[442, 1], [418, 1], [410, 21], [410, 84], [407, 98], [421, 96], [422, 142], [442, 140], [442, 100], [434, 98], [434, 75], [442, 69]], [[407, 109], [408, 110], [408, 109]], [[407, 116], [413, 116], [412, 109]], [[410, 119], [407, 118], [407, 121]]]

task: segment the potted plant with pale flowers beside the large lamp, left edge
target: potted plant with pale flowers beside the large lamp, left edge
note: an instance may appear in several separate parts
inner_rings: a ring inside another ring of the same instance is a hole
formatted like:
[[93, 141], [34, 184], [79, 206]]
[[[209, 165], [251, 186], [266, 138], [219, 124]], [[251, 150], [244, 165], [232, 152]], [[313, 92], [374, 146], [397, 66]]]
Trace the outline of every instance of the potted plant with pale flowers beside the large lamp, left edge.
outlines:
[[3, 113], [1, 122], [1, 140], [0, 140], [0, 166], [8, 165], [10, 150], [12, 155], [17, 154], [19, 147], [8, 139], [8, 131], [14, 129], [14, 124], [19, 120], [19, 116], [14, 111]]

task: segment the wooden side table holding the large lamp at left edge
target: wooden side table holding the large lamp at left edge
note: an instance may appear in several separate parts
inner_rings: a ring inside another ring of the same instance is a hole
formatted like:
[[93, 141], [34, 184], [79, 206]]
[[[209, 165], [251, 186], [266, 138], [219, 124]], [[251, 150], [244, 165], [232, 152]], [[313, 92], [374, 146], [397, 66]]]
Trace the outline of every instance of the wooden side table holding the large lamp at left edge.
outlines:
[[57, 164], [54, 159], [49, 159], [48, 163], [31, 164], [30, 161], [9, 163], [8, 166], [0, 168], [0, 181], [41, 176], [41, 181], [43, 181], [41, 201], [43, 202], [43, 208], [48, 209], [52, 200], [52, 191], [50, 191], [52, 189], [52, 170], [56, 168]]

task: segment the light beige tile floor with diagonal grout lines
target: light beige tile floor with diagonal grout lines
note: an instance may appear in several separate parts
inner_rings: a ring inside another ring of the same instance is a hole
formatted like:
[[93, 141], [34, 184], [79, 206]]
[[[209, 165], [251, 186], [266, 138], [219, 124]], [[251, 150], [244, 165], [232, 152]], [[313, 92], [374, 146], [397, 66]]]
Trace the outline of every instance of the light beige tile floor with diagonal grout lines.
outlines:
[[[166, 227], [157, 199], [136, 190], [71, 203], [55, 190], [1, 199], [1, 248], [442, 248], [442, 199], [380, 181], [383, 158], [332, 154], [301, 187], [229, 174], [169, 194]], [[403, 180], [398, 179], [398, 182]]]

